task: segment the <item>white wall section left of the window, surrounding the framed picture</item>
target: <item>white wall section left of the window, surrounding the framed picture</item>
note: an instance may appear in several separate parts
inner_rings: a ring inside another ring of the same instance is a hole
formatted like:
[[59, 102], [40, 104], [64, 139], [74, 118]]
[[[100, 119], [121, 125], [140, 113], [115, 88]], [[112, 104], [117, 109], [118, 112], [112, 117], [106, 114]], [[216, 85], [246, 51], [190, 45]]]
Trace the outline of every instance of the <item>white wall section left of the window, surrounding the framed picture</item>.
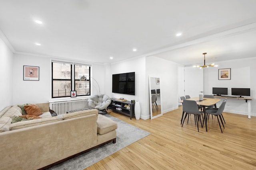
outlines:
[[[24, 81], [23, 66], [39, 66], [39, 81]], [[45, 103], [50, 100], [50, 58], [30, 55], [14, 55], [13, 104]]]

